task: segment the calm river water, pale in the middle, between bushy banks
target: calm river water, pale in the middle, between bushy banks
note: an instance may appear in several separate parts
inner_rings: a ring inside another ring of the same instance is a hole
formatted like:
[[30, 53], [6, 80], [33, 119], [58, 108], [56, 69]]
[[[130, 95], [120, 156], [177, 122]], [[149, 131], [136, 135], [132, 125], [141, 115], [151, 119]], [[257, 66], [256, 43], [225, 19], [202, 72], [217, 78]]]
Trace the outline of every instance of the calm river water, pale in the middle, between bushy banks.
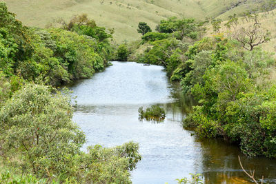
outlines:
[[[113, 61], [106, 71], [70, 85], [77, 96], [73, 121], [86, 134], [83, 146], [105, 147], [128, 141], [139, 143], [143, 156], [132, 172], [133, 183], [177, 183], [176, 178], [201, 173], [204, 183], [249, 183], [241, 170], [264, 175], [266, 183], [276, 183], [276, 160], [246, 158], [237, 145], [218, 140], [198, 140], [181, 127], [193, 101], [181, 95], [179, 86], [168, 81], [164, 68], [157, 65]], [[139, 121], [138, 108], [159, 104], [166, 110], [162, 123]]]

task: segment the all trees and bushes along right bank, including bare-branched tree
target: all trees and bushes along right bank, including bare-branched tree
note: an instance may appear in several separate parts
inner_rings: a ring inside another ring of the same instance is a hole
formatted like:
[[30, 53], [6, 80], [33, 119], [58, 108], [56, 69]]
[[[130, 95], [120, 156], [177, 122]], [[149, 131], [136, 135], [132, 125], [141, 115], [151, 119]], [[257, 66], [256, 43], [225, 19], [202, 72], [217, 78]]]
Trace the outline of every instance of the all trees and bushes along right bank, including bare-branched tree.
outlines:
[[[226, 28], [237, 28], [235, 16]], [[199, 105], [184, 127], [195, 127], [197, 136], [238, 143], [248, 156], [276, 158], [275, 58], [258, 47], [270, 34], [258, 14], [246, 19], [252, 23], [247, 30], [204, 37], [204, 22], [172, 17], [128, 45], [128, 60], [163, 65], [171, 81], [193, 94]]]

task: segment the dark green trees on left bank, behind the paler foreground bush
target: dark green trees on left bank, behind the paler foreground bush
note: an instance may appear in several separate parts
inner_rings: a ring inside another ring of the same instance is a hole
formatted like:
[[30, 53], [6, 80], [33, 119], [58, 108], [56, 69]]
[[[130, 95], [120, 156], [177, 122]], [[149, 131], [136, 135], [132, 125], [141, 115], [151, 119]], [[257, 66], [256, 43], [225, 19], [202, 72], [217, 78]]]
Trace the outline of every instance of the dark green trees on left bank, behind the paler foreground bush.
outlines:
[[66, 30], [42, 30], [24, 27], [3, 2], [0, 12], [0, 70], [6, 76], [61, 85], [89, 78], [108, 63], [111, 35], [85, 14], [64, 25]]

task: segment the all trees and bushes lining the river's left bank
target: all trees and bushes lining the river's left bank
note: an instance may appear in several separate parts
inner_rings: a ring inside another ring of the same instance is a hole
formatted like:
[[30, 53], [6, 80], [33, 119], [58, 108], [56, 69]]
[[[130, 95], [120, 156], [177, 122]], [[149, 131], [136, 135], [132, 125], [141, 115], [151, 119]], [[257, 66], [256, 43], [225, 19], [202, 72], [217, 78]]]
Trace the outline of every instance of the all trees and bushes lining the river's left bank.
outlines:
[[86, 14], [28, 28], [0, 2], [0, 183], [131, 183], [139, 145], [82, 152], [70, 93], [55, 89], [103, 71], [111, 37]]

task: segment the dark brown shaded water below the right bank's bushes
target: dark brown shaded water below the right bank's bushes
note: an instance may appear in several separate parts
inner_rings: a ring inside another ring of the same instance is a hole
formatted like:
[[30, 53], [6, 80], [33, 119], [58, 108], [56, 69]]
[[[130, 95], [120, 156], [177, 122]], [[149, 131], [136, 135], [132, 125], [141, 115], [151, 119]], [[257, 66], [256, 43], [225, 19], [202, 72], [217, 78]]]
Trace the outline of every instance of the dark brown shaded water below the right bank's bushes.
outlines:
[[238, 155], [246, 170], [255, 170], [255, 179], [265, 178], [265, 183], [276, 183], [276, 161], [264, 157], [248, 158], [237, 145], [221, 140], [195, 140], [201, 145], [202, 169], [205, 183], [252, 183], [239, 165]]

